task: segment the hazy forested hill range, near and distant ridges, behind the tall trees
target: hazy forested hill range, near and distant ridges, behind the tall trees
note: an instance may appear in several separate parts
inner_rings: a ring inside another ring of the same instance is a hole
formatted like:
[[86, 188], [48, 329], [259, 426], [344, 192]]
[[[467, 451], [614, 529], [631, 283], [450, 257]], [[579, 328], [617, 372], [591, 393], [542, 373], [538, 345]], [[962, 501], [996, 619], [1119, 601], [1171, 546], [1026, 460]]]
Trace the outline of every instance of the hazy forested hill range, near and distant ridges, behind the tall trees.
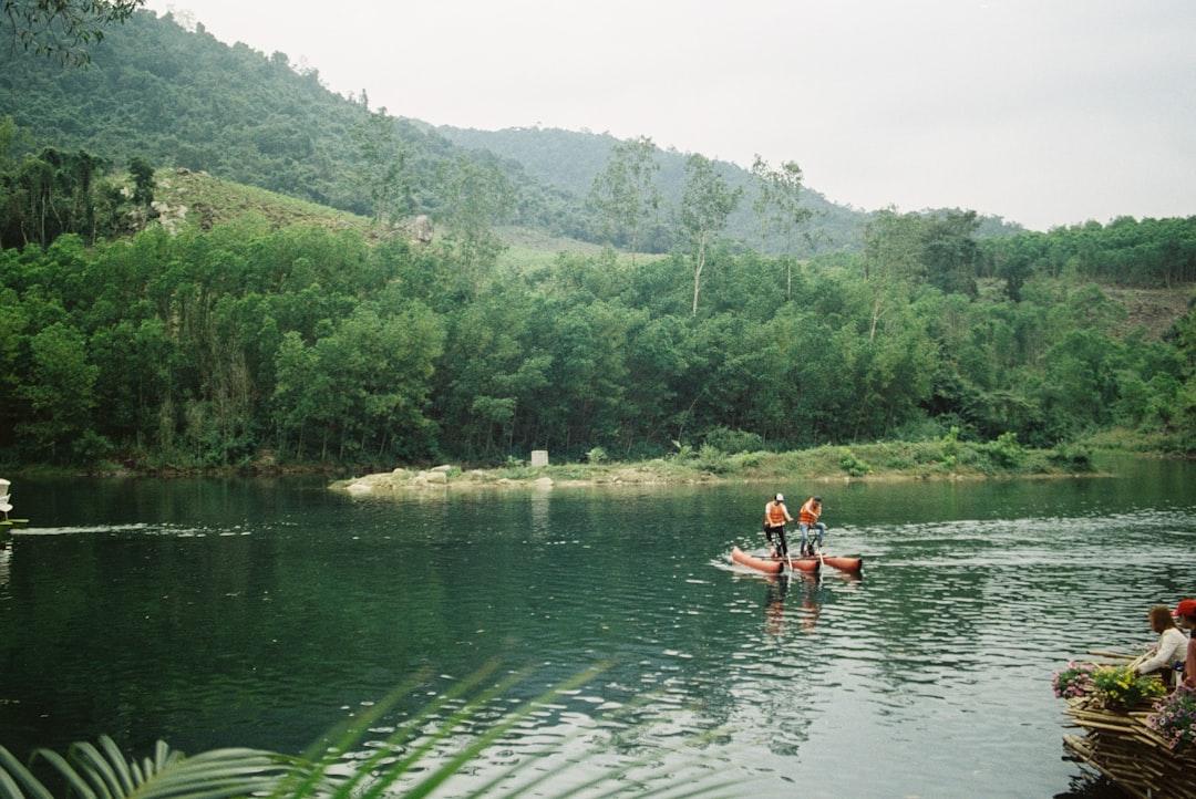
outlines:
[[[391, 143], [402, 160], [402, 203], [392, 210], [434, 214], [445, 202], [438, 165], [468, 158], [501, 167], [517, 193], [515, 225], [604, 242], [585, 197], [610, 156], [616, 140], [609, 135], [433, 128], [404, 119], [402, 109], [371, 109], [368, 87], [348, 98], [328, 91], [318, 64], [221, 43], [202, 24], [189, 31], [170, 14], [139, 12], [111, 26], [91, 56], [86, 69], [63, 69], [54, 60], [4, 49], [0, 116], [11, 117], [33, 148], [83, 149], [110, 170], [144, 158], [157, 168], [203, 171], [366, 216], [378, 213], [362, 179], [370, 166], [366, 133], [382, 116], [393, 125]], [[643, 248], [667, 252], [677, 244], [672, 232], [687, 155], [655, 155], [664, 203]], [[728, 186], [745, 189], [724, 238], [758, 247], [752, 176], [726, 162], [715, 161], [715, 168]], [[798, 254], [862, 246], [871, 214], [830, 203], [814, 188], [804, 186], [801, 197], [812, 216]], [[982, 219], [977, 235], [1018, 229]]]

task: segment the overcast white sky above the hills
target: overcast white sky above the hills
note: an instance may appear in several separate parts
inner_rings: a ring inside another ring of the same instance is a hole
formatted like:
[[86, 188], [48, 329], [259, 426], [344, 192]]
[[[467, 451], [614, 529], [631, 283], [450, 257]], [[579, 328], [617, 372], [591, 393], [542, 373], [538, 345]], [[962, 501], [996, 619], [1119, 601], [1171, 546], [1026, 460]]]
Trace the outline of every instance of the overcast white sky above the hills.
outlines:
[[874, 210], [1196, 215], [1196, 0], [148, 0], [432, 124], [649, 136]]

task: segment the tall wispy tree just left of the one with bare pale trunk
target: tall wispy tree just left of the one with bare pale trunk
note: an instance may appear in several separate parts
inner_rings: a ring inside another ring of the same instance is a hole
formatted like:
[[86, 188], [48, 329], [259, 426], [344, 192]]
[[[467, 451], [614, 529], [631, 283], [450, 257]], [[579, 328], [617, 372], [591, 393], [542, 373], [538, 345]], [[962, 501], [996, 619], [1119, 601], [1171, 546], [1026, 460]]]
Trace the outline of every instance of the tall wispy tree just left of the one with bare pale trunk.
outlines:
[[660, 164], [648, 136], [616, 142], [603, 171], [590, 188], [590, 204], [598, 209], [609, 238], [626, 236], [631, 265], [639, 248], [640, 225], [660, 205], [655, 174]]

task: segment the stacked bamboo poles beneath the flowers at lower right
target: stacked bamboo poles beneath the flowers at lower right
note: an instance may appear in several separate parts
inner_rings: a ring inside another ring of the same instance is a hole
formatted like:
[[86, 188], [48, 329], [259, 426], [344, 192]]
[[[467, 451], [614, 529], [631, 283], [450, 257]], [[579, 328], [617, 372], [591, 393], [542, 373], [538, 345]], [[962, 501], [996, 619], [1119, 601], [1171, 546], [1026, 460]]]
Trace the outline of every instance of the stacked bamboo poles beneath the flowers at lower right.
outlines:
[[[1092, 654], [1118, 658], [1106, 652]], [[1124, 660], [1123, 660], [1124, 663]], [[1151, 708], [1104, 707], [1096, 696], [1067, 700], [1067, 715], [1084, 735], [1064, 735], [1063, 746], [1079, 762], [1141, 799], [1196, 797], [1196, 748], [1172, 750], [1146, 726]]]

